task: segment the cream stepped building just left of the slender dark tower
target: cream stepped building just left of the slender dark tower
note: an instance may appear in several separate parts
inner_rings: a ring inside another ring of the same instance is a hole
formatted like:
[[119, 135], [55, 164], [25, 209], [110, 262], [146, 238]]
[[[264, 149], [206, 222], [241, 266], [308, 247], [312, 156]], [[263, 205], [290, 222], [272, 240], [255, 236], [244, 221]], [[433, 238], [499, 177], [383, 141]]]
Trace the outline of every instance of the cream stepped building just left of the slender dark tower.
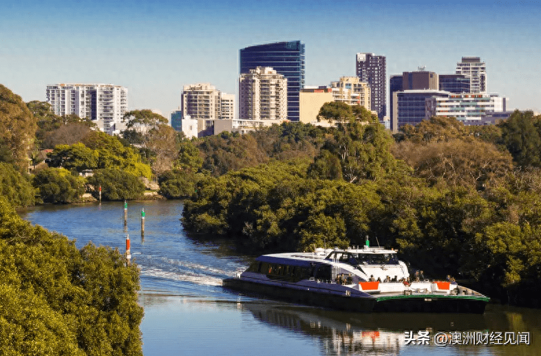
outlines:
[[337, 82], [331, 82], [332, 98], [335, 102], [345, 102], [350, 105], [362, 105], [370, 111], [370, 85], [359, 77], [341, 77]]

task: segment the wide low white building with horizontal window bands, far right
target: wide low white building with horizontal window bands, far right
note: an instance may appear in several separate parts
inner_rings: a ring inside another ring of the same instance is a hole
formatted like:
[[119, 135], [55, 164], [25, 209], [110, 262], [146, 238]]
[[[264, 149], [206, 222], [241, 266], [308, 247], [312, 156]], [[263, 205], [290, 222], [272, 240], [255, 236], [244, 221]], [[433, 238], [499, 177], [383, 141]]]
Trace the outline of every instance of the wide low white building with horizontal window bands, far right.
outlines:
[[425, 119], [432, 116], [452, 116], [465, 124], [481, 122], [487, 115], [506, 111], [507, 98], [496, 94], [455, 94], [447, 97], [432, 97], [425, 102]]

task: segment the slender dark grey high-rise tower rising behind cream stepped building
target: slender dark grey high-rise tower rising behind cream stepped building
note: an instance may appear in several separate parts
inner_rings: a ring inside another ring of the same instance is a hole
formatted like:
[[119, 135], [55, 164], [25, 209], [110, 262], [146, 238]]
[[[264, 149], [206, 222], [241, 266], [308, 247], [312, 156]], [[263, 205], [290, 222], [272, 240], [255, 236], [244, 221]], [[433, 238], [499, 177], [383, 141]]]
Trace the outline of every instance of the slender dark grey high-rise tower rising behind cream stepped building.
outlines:
[[370, 110], [378, 113], [379, 120], [387, 115], [385, 56], [357, 53], [357, 76], [370, 85]]

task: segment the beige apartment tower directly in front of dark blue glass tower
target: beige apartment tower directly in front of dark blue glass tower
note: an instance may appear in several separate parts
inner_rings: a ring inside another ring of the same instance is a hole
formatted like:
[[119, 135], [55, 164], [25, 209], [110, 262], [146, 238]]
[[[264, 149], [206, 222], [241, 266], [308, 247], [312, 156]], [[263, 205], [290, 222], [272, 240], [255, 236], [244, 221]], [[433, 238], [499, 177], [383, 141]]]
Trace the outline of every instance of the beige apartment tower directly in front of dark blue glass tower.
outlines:
[[241, 120], [286, 120], [287, 79], [271, 67], [256, 67], [239, 79]]

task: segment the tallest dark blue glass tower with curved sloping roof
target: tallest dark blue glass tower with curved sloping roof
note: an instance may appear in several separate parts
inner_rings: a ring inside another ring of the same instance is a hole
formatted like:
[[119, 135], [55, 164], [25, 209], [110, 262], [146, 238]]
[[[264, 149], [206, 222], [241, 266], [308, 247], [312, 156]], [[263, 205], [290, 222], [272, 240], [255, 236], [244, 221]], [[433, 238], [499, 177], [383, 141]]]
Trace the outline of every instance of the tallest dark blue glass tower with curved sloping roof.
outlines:
[[240, 50], [240, 74], [272, 67], [288, 80], [288, 120], [299, 121], [299, 92], [304, 88], [304, 43], [268, 43]]

